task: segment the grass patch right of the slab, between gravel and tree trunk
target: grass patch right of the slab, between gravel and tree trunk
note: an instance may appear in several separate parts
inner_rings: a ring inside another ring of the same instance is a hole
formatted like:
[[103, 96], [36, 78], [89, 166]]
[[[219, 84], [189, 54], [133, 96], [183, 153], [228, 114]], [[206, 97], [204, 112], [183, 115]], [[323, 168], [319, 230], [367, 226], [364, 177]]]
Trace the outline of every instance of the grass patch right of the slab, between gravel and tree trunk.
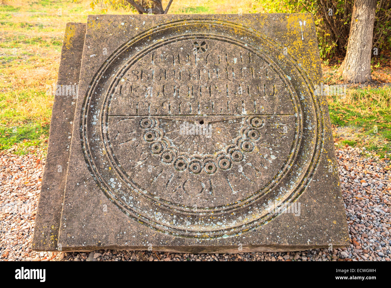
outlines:
[[330, 97], [330, 120], [337, 147], [365, 147], [389, 158], [391, 154], [391, 86], [348, 89], [345, 98]]

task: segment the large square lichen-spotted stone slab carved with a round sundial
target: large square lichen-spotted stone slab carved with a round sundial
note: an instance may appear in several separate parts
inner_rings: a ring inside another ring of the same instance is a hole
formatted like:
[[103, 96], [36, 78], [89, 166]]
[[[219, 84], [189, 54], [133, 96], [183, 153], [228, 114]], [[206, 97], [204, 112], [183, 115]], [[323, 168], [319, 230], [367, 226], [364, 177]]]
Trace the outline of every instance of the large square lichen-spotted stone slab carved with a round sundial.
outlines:
[[347, 246], [321, 78], [311, 14], [89, 16], [58, 245]]

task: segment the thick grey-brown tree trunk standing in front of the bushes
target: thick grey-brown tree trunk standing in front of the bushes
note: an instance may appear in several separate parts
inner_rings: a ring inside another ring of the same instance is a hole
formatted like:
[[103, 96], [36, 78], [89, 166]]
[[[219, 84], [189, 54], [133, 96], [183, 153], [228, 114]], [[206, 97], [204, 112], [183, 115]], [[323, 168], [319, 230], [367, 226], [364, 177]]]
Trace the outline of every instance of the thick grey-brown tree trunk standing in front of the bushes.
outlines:
[[376, 0], [355, 0], [346, 56], [339, 72], [348, 83], [371, 80], [371, 53]]

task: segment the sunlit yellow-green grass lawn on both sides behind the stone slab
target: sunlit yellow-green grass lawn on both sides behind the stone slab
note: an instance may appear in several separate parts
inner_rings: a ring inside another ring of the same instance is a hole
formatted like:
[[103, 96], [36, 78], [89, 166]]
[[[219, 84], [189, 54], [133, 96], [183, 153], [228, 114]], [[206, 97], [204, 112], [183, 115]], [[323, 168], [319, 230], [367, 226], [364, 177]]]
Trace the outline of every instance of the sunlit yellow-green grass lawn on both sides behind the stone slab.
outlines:
[[[23, 154], [47, 145], [54, 97], [45, 92], [47, 85], [56, 83], [65, 24], [86, 22], [87, 15], [102, 12], [92, 11], [90, 0], [7, 2], [0, 5], [0, 150]], [[170, 9], [170, 13], [189, 14], [239, 12], [262, 13], [263, 9], [252, 0], [174, 0]], [[106, 13], [131, 12], [109, 9]], [[375, 75], [380, 68], [391, 66], [379, 65], [373, 65]], [[329, 71], [330, 67], [325, 83], [332, 84]], [[390, 69], [381, 70], [380, 75], [391, 79]], [[390, 88], [382, 88], [350, 90], [345, 99], [330, 98], [336, 144], [389, 154], [390, 97]]]

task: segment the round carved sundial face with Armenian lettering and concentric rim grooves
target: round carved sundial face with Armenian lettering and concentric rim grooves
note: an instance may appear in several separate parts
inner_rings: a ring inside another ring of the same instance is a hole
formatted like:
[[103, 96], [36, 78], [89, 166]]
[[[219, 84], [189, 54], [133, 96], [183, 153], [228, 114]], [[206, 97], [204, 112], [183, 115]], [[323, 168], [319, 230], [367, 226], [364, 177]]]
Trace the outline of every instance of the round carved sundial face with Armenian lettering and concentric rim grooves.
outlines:
[[276, 65], [280, 52], [215, 21], [162, 25], [124, 44], [81, 114], [102, 192], [178, 236], [238, 235], [276, 216], [272, 205], [300, 195], [321, 146], [317, 104], [292, 59]]

